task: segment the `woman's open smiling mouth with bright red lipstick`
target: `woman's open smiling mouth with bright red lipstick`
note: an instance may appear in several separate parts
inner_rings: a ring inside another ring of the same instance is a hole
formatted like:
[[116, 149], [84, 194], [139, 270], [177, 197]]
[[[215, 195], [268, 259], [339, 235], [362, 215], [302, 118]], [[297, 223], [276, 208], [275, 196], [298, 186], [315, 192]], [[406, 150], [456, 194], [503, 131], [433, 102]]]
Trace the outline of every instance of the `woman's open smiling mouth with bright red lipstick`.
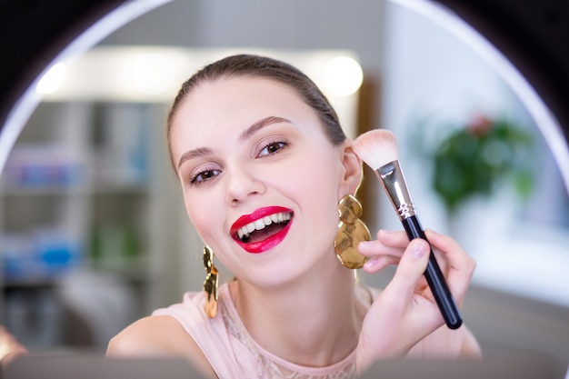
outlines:
[[280, 206], [260, 208], [239, 217], [231, 235], [248, 253], [263, 253], [284, 240], [292, 218], [293, 212]]

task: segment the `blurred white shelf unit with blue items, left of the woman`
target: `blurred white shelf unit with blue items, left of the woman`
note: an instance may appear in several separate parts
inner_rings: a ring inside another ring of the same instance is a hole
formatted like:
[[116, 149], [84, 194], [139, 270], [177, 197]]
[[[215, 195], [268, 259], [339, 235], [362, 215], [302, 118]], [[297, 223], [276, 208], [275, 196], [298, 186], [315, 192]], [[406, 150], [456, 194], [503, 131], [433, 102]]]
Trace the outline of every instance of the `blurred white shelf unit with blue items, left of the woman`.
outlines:
[[41, 291], [87, 270], [132, 286], [135, 317], [159, 306], [163, 266], [151, 262], [167, 245], [168, 198], [153, 182], [167, 155], [149, 144], [161, 143], [164, 112], [125, 102], [38, 107], [0, 180], [5, 290]]

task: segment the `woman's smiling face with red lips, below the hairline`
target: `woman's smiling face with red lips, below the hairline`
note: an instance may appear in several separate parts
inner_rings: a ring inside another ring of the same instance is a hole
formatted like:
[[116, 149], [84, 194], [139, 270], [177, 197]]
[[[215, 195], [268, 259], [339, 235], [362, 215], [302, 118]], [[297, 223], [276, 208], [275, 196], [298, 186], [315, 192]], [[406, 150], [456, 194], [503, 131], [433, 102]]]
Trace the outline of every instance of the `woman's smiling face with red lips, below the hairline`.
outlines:
[[344, 145], [328, 141], [293, 89], [254, 77], [198, 85], [175, 115], [171, 147], [187, 214], [236, 277], [270, 285], [338, 265], [337, 204], [354, 192]]

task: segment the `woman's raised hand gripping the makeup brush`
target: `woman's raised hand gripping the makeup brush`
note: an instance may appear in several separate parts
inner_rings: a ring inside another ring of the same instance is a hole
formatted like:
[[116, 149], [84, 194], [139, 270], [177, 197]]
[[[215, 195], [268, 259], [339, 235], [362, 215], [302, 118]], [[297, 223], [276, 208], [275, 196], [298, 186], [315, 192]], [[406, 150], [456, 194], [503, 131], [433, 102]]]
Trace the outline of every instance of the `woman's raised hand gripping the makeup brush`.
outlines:
[[[425, 234], [460, 308], [474, 273], [474, 260], [452, 238], [430, 230]], [[377, 240], [359, 244], [358, 249], [370, 257], [364, 265], [364, 271], [368, 273], [378, 272], [391, 264], [398, 265], [392, 281], [375, 299], [364, 318], [356, 352], [358, 371], [364, 372], [378, 359], [408, 354], [427, 336], [433, 356], [460, 354], [464, 326], [455, 331], [441, 328], [441, 332], [434, 334], [444, 325], [444, 319], [424, 278], [429, 244], [421, 239], [409, 242], [404, 232], [380, 231]], [[451, 339], [454, 344], [449, 346]], [[454, 351], [449, 351], [449, 347]], [[422, 355], [429, 355], [429, 352], [423, 351]]]

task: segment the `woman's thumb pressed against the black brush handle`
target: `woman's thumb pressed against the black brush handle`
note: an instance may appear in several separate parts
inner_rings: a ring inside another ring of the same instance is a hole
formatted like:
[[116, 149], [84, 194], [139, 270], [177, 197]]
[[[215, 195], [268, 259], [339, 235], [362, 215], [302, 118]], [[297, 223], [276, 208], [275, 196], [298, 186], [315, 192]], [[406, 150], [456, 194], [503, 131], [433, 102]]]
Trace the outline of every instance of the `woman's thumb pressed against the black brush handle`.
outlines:
[[389, 284], [394, 287], [394, 293], [404, 297], [414, 294], [415, 287], [426, 270], [430, 250], [430, 245], [420, 238], [414, 238], [407, 245]]

